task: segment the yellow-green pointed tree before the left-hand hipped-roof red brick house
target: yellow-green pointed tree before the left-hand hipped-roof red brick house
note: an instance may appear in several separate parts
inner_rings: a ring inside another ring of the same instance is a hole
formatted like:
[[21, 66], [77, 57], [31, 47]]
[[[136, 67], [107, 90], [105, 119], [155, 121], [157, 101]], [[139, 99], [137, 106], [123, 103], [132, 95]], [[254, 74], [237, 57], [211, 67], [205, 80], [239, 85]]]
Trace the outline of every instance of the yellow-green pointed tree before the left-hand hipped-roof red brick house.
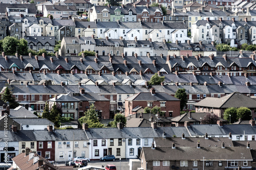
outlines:
[[87, 123], [89, 128], [103, 128], [104, 125], [99, 122], [97, 117], [97, 113], [95, 111], [94, 104], [90, 106], [86, 112], [84, 112], [84, 116], [78, 119], [79, 123], [82, 125], [83, 123]]

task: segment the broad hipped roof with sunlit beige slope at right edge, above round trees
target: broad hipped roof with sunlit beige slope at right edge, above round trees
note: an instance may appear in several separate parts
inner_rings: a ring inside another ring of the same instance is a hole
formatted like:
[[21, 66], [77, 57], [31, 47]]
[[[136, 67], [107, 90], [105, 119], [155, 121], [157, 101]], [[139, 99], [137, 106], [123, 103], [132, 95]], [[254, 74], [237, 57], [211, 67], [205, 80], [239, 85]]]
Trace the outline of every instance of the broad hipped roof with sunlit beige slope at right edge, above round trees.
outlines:
[[222, 98], [205, 98], [195, 104], [201, 107], [214, 107], [214, 108], [229, 108], [229, 107], [248, 107], [255, 108], [256, 101], [249, 96], [241, 94], [240, 92], [233, 92], [227, 94]]

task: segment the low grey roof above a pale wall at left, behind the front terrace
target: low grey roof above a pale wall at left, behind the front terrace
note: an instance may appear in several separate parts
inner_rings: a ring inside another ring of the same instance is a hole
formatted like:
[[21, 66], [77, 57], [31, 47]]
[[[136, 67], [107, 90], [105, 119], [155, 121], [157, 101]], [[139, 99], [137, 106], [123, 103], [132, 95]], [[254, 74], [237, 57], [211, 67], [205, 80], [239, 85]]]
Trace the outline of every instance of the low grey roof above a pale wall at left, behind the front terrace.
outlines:
[[12, 118], [18, 124], [25, 125], [54, 125], [46, 118]]

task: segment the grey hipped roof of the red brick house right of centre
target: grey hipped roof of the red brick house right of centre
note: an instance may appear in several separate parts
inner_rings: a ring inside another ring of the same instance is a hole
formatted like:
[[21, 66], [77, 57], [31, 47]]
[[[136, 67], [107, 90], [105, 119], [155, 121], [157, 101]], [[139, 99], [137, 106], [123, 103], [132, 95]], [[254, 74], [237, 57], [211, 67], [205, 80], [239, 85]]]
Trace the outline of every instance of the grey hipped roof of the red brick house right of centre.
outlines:
[[140, 92], [130, 98], [125, 99], [125, 101], [180, 101], [172, 95], [162, 92], [156, 92], [152, 95], [151, 92]]

